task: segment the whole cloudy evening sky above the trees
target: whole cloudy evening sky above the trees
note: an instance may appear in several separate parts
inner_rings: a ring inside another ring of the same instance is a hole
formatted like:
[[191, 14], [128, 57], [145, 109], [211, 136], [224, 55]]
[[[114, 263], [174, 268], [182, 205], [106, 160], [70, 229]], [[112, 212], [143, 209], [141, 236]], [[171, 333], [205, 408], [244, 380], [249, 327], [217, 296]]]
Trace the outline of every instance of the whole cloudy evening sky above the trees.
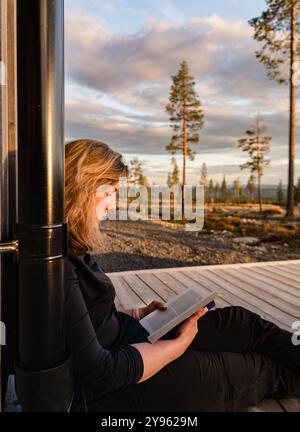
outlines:
[[[66, 0], [67, 140], [104, 141], [127, 163], [138, 157], [150, 184], [165, 185], [172, 136], [165, 106], [171, 76], [186, 60], [204, 113], [188, 183], [199, 182], [206, 163], [214, 181], [226, 175], [228, 184], [245, 184], [247, 155], [237, 140], [259, 113], [272, 136], [263, 183], [286, 184], [288, 87], [267, 77], [248, 24], [264, 9], [264, 0]], [[296, 177], [299, 126], [298, 116]]]

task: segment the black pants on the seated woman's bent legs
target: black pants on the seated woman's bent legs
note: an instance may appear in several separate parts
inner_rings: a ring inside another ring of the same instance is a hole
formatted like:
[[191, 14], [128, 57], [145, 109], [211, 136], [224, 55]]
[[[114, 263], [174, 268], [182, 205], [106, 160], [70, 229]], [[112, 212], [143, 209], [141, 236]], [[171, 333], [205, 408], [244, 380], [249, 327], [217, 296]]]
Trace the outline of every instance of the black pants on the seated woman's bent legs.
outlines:
[[[127, 343], [147, 341], [143, 328]], [[242, 307], [208, 312], [185, 353], [155, 375], [89, 404], [91, 411], [242, 411], [300, 396], [300, 347], [291, 333]], [[175, 337], [176, 328], [162, 339]]]

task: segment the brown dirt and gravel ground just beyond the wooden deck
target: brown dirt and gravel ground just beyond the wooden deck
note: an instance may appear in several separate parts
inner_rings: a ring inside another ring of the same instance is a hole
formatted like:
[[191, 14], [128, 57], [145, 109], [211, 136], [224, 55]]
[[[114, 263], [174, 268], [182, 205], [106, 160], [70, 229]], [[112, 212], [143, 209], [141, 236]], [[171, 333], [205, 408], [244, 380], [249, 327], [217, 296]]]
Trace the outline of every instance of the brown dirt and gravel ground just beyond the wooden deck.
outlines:
[[259, 227], [253, 244], [235, 240], [245, 232], [188, 232], [159, 221], [104, 221], [101, 227], [103, 253], [95, 258], [105, 272], [300, 259], [300, 235], [258, 236]]

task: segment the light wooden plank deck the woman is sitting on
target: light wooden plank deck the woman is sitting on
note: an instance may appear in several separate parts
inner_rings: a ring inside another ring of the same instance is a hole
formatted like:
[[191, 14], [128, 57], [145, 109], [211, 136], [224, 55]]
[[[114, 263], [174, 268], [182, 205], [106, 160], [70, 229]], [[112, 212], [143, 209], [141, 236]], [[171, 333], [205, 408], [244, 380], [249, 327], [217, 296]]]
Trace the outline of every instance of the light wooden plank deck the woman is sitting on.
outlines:
[[[300, 260], [176, 267], [107, 273], [116, 289], [116, 307], [167, 301], [190, 286], [218, 291], [217, 307], [243, 306], [292, 331], [300, 320]], [[300, 348], [299, 348], [300, 349]], [[249, 411], [297, 411], [300, 399], [266, 400]]]

